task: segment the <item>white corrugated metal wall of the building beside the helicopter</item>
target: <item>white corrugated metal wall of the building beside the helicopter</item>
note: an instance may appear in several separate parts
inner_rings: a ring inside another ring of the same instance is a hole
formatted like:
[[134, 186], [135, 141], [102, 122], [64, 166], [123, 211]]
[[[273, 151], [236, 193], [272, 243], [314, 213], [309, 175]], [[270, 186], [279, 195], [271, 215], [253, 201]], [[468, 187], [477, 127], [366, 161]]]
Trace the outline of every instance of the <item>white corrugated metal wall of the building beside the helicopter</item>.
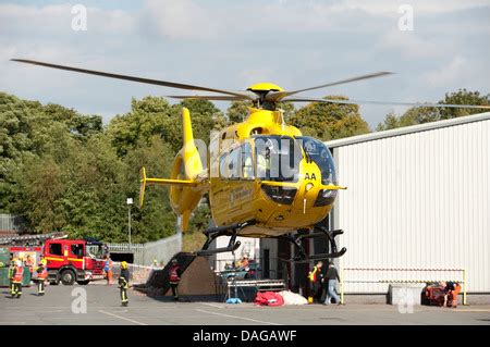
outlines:
[[[341, 268], [463, 268], [490, 292], [490, 121], [334, 147], [341, 190], [334, 228]], [[348, 280], [448, 280], [458, 273], [345, 272]], [[346, 284], [351, 293], [388, 285]]]

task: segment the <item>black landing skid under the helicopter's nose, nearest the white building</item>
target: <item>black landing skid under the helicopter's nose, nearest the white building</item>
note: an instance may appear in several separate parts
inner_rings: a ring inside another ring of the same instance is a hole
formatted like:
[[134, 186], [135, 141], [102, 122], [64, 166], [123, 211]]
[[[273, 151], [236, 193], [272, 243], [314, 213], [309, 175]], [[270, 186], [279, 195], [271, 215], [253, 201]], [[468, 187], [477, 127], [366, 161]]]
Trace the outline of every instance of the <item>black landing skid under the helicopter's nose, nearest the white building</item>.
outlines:
[[[342, 235], [344, 232], [342, 230], [334, 230], [334, 231], [328, 231], [324, 226], [321, 225], [315, 225], [314, 233], [313, 234], [305, 234], [305, 235], [283, 235], [279, 236], [279, 238], [289, 240], [294, 245], [294, 247], [297, 250], [297, 256], [291, 259], [282, 259], [284, 261], [289, 262], [295, 262], [295, 263], [307, 263], [311, 260], [322, 260], [322, 259], [332, 259], [332, 258], [339, 258], [342, 257], [347, 249], [345, 247], [342, 247], [341, 250], [338, 250], [336, 243], [335, 243], [335, 236]], [[330, 244], [330, 252], [324, 253], [318, 253], [313, 256], [306, 256], [306, 251], [302, 245], [303, 239], [307, 238], [317, 238], [317, 237], [326, 237]]]

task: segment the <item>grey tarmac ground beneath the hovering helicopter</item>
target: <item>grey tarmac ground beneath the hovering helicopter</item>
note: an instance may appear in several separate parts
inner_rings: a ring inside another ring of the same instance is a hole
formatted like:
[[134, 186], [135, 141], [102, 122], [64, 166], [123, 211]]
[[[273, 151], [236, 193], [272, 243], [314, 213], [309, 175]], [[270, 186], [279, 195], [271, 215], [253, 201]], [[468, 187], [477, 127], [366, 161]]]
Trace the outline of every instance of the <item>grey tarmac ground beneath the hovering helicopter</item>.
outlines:
[[[128, 290], [121, 307], [117, 285], [47, 286], [23, 289], [20, 299], [0, 288], [0, 325], [490, 325], [490, 305], [406, 308], [389, 305], [257, 307], [216, 301], [175, 302]], [[405, 313], [402, 313], [402, 312]], [[409, 311], [409, 310], [408, 310]]]

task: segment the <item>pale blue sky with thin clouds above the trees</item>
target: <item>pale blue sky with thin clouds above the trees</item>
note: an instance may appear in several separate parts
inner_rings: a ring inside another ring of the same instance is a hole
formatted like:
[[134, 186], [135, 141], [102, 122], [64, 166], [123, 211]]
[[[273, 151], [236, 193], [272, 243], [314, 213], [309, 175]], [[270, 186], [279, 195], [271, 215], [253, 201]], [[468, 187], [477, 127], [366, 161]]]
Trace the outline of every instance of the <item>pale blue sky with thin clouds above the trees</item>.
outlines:
[[[71, 28], [76, 3], [88, 9], [86, 32]], [[412, 32], [397, 26], [404, 3], [414, 9]], [[489, 38], [490, 0], [1, 1], [0, 90], [106, 122], [127, 112], [132, 97], [179, 94], [9, 62], [26, 58], [230, 89], [393, 71], [306, 95], [438, 101], [458, 88], [490, 92]], [[375, 127], [403, 110], [370, 106], [362, 114]]]

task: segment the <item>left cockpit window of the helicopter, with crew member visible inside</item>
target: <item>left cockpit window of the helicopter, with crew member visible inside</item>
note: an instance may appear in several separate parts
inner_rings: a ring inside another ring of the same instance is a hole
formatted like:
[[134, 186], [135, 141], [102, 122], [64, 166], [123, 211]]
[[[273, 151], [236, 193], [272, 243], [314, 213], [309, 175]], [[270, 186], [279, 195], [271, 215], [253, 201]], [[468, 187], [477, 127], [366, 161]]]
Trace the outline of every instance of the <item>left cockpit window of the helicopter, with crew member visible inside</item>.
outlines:
[[301, 147], [289, 136], [255, 136], [257, 177], [275, 182], [297, 182]]

